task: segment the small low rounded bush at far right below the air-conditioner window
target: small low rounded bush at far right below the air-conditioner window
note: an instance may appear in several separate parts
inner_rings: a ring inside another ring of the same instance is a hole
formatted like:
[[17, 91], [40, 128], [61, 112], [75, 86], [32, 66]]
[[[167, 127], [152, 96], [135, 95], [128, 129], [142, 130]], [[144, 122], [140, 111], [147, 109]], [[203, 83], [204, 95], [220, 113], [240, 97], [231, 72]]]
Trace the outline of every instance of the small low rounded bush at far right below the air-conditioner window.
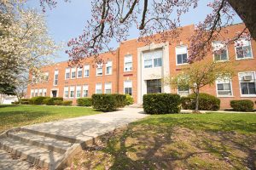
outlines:
[[253, 101], [249, 99], [231, 100], [230, 106], [234, 111], [253, 111]]

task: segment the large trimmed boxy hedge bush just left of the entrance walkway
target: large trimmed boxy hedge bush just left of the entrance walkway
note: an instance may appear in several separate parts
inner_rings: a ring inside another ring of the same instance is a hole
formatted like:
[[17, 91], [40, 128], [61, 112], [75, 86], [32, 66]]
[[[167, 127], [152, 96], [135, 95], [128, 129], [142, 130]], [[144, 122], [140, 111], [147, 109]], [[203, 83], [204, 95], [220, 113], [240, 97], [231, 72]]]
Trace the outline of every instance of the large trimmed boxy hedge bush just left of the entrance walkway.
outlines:
[[93, 108], [99, 111], [114, 111], [125, 106], [124, 94], [93, 94]]

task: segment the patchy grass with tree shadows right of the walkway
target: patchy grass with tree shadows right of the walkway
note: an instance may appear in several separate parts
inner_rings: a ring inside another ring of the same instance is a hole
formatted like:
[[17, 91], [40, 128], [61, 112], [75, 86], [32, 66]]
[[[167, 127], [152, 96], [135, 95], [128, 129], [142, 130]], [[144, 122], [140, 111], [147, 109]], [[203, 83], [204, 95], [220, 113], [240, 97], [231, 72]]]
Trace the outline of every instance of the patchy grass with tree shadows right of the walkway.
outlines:
[[73, 169], [253, 169], [256, 114], [155, 115], [96, 140]]

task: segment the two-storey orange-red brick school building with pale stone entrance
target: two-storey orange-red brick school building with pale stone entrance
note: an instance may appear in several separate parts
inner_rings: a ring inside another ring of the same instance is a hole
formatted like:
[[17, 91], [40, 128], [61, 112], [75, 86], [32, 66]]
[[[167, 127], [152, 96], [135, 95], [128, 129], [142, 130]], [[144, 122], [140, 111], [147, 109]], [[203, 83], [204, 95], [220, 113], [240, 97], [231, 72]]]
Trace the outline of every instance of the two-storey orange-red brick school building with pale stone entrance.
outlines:
[[[242, 31], [243, 24], [228, 26], [224, 38], [234, 37]], [[188, 65], [188, 38], [195, 30], [194, 25], [183, 26], [179, 40], [145, 45], [137, 39], [121, 42], [113, 53], [101, 54], [104, 64], [96, 65], [94, 59], [84, 59], [83, 66], [68, 67], [67, 61], [44, 67], [46, 79], [34, 80], [27, 87], [27, 97], [51, 96], [73, 100], [90, 97], [92, 94], [131, 94], [136, 103], [142, 103], [143, 94], [177, 93], [187, 95], [189, 89], [171, 89], [161, 85], [160, 79], [175, 75]], [[242, 47], [235, 44], [226, 48], [223, 54], [209, 54], [206, 58], [220, 61], [235, 59], [237, 74], [230, 81], [216, 81], [215, 85], [201, 89], [201, 93], [221, 99], [221, 108], [230, 108], [232, 99], [256, 100], [256, 42], [241, 39]], [[220, 40], [221, 42], [221, 40]], [[220, 42], [214, 42], [220, 43]], [[214, 47], [214, 44], [212, 47]], [[237, 53], [239, 48], [247, 53]]]

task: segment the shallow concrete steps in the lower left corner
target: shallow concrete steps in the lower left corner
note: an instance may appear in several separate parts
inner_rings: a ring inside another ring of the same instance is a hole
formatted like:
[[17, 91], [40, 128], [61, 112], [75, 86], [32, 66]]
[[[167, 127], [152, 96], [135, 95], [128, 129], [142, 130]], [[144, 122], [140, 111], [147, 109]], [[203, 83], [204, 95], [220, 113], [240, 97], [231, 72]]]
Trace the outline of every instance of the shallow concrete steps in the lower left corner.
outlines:
[[0, 149], [5, 150], [9, 157], [17, 156], [38, 167], [60, 169], [74, 146], [78, 146], [69, 142], [74, 139], [61, 139], [61, 136], [20, 128], [0, 136]]

